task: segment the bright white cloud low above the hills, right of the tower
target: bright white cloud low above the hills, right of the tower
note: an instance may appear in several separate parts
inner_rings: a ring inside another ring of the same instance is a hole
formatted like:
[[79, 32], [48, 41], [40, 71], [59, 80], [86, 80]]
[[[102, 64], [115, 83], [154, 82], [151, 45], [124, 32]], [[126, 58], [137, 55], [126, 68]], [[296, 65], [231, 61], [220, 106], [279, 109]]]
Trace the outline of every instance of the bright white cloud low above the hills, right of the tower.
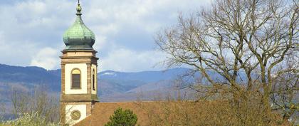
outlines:
[[115, 49], [107, 58], [99, 60], [102, 70], [118, 71], [142, 71], [159, 70], [161, 65], [157, 64], [164, 60], [165, 55], [157, 51], [131, 51], [125, 48]]

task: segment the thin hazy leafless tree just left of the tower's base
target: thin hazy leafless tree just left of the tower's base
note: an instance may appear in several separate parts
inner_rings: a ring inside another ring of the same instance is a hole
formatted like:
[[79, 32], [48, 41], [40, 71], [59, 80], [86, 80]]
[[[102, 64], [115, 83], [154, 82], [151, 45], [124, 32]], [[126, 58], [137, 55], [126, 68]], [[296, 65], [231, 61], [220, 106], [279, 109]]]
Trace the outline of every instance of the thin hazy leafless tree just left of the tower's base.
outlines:
[[47, 122], [59, 122], [58, 100], [49, 95], [44, 88], [36, 88], [33, 93], [12, 90], [11, 103], [16, 117], [23, 115], [39, 115]]

